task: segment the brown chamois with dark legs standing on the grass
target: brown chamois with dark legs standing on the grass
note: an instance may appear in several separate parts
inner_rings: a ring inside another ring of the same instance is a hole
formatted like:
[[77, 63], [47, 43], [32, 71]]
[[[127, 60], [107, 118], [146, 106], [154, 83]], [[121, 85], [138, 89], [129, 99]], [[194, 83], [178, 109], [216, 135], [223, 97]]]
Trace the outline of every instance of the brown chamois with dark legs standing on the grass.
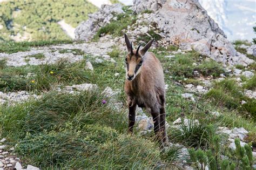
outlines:
[[154, 53], [147, 52], [154, 39], [141, 50], [132, 49], [132, 42], [124, 34], [128, 54], [125, 58], [125, 93], [129, 106], [129, 132], [133, 132], [136, 106], [145, 107], [152, 114], [154, 133], [160, 146], [167, 145], [165, 130], [165, 83], [164, 72]]

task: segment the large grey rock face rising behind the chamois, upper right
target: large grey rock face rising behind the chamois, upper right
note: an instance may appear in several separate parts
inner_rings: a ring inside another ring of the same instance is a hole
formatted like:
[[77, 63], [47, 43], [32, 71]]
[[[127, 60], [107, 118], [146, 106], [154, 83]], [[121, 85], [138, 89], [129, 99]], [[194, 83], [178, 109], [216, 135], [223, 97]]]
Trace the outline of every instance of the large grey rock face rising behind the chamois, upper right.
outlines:
[[253, 60], [235, 51], [225, 33], [207, 15], [198, 0], [134, 0], [133, 4], [136, 12], [152, 10], [146, 20], [157, 24], [157, 29], [167, 41], [183, 49], [192, 47], [225, 64], [247, 66], [253, 63]]

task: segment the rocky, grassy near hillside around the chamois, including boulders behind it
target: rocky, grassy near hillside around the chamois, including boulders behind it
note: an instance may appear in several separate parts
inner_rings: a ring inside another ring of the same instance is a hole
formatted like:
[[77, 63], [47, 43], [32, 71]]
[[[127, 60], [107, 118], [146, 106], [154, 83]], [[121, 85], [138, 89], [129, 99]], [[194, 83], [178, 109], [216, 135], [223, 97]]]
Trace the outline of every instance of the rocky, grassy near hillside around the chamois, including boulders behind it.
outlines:
[[[0, 168], [256, 168], [255, 44], [228, 42], [200, 4], [178, 5], [180, 21], [187, 21], [183, 8], [199, 19], [184, 22], [172, 39], [172, 24], [151, 21], [165, 15], [160, 5], [140, 5], [105, 6], [77, 26], [77, 42], [0, 44]], [[183, 31], [190, 38], [179, 37]], [[150, 51], [165, 76], [164, 150], [142, 108], [134, 134], [127, 133], [124, 32], [134, 47], [155, 38]], [[202, 37], [212, 46], [187, 47], [204, 45]]]

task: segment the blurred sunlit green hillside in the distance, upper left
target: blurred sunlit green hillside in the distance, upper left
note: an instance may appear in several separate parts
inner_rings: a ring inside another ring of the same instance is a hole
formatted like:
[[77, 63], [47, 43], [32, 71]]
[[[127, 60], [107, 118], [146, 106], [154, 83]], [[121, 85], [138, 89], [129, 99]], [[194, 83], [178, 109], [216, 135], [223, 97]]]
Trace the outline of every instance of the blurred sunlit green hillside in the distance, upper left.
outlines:
[[[87, 1], [8, 1], [0, 3], [0, 37], [10, 40], [9, 35], [20, 32], [31, 34], [33, 40], [68, 39], [57, 24], [65, 22], [76, 27], [87, 19], [88, 13], [97, 8]], [[24, 28], [25, 26], [25, 28]], [[0, 38], [0, 40], [1, 40]]]

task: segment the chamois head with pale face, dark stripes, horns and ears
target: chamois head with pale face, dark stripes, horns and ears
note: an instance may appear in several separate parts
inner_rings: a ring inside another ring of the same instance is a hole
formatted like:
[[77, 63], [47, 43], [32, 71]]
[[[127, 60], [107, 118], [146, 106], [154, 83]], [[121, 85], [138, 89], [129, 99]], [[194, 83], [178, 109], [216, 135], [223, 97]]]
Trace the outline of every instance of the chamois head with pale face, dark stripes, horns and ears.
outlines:
[[132, 42], [130, 42], [126, 34], [124, 34], [124, 39], [128, 50], [128, 54], [125, 57], [126, 79], [132, 81], [142, 70], [144, 55], [149, 50], [154, 39], [151, 39], [141, 50], [139, 50], [141, 45], [138, 46], [137, 50], [132, 49]]

